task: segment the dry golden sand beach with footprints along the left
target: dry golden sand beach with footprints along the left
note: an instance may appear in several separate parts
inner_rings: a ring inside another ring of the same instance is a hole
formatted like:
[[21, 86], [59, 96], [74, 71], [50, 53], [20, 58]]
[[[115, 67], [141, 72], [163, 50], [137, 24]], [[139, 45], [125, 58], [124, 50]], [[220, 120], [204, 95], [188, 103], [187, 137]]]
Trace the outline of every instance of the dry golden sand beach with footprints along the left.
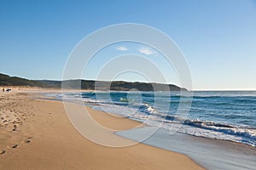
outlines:
[[[146, 144], [111, 148], [92, 143], [69, 122], [61, 101], [32, 99], [35, 92], [46, 91], [20, 88], [0, 94], [0, 169], [203, 169], [188, 156]], [[90, 112], [114, 129], [140, 124]]]

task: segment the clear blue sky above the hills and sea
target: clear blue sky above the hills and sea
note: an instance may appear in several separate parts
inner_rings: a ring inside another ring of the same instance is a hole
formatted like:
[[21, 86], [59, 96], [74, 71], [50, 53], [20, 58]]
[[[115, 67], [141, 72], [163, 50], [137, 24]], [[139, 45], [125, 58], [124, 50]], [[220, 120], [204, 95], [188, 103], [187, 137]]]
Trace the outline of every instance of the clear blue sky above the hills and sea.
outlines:
[[[171, 37], [188, 62], [193, 89], [256, 90], [253, 0], [0, 0], [0, 72], [61, 80], [69, 54], [84, 37], [121, 23], [153, 26]], [[107, 62], [131, 51], [159, 62], [168, 82], [178, 85], [162, 56], [135, 43], [102, 49], [83, 78], [96, 79], [93, 68], [104, 65], [101, 56]], [[129, 73], [117, 79], [145, 81]]]

